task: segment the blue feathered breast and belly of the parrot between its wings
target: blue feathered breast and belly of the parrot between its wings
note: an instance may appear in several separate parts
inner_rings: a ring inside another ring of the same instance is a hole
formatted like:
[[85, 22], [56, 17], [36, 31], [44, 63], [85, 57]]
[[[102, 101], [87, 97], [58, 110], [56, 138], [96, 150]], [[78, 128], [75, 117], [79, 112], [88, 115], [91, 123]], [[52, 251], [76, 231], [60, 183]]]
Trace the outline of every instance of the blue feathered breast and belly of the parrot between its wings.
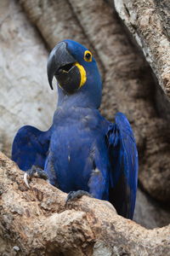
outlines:
[[65, 192], [88, 190], [88, 180], [93, 171], [91, 151], [94, 144], [104, 139], [99, 120], [89, 113], [79, 118], [68, 117], [54, 126], [51, 152], [59, 188]]

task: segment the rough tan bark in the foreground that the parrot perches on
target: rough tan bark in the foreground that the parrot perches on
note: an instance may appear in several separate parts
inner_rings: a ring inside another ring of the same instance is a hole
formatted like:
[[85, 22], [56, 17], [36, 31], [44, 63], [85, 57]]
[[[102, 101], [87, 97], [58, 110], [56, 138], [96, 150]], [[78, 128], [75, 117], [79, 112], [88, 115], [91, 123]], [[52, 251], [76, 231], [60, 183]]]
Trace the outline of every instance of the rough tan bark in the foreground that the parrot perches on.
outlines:
[[[1, 255], [170, 255], [170, 226], [146, 230], [109, 202], [66, 194], [32, 178], [0, 154]], [[3, 177], [3, 178], [2, 178]]]

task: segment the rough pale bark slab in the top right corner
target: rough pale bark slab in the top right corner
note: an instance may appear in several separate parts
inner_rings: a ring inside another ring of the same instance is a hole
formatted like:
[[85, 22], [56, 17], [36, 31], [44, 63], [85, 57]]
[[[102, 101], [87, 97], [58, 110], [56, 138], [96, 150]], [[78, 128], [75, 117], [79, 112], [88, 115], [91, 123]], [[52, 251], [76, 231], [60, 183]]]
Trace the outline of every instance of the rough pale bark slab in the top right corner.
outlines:
[[158, 83], [170, 97], [170, 40], [168, 1], [114, 0], [116, 11], [133, 34]]

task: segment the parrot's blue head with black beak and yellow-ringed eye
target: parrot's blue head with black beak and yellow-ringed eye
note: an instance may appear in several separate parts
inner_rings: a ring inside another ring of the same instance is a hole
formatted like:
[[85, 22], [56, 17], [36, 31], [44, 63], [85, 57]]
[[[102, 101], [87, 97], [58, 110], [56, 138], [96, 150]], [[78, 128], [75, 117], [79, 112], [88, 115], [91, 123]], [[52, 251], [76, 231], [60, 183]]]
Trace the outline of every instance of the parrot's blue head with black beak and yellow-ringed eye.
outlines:
[[87, 102], [99, 108], [102, 90], [99, 69], [92, 53], [82, 44], [66, 39], [52, 49], [48, 57], [48, 82], [52, 90], [54, 77], [65, 95], [86, 96]]

